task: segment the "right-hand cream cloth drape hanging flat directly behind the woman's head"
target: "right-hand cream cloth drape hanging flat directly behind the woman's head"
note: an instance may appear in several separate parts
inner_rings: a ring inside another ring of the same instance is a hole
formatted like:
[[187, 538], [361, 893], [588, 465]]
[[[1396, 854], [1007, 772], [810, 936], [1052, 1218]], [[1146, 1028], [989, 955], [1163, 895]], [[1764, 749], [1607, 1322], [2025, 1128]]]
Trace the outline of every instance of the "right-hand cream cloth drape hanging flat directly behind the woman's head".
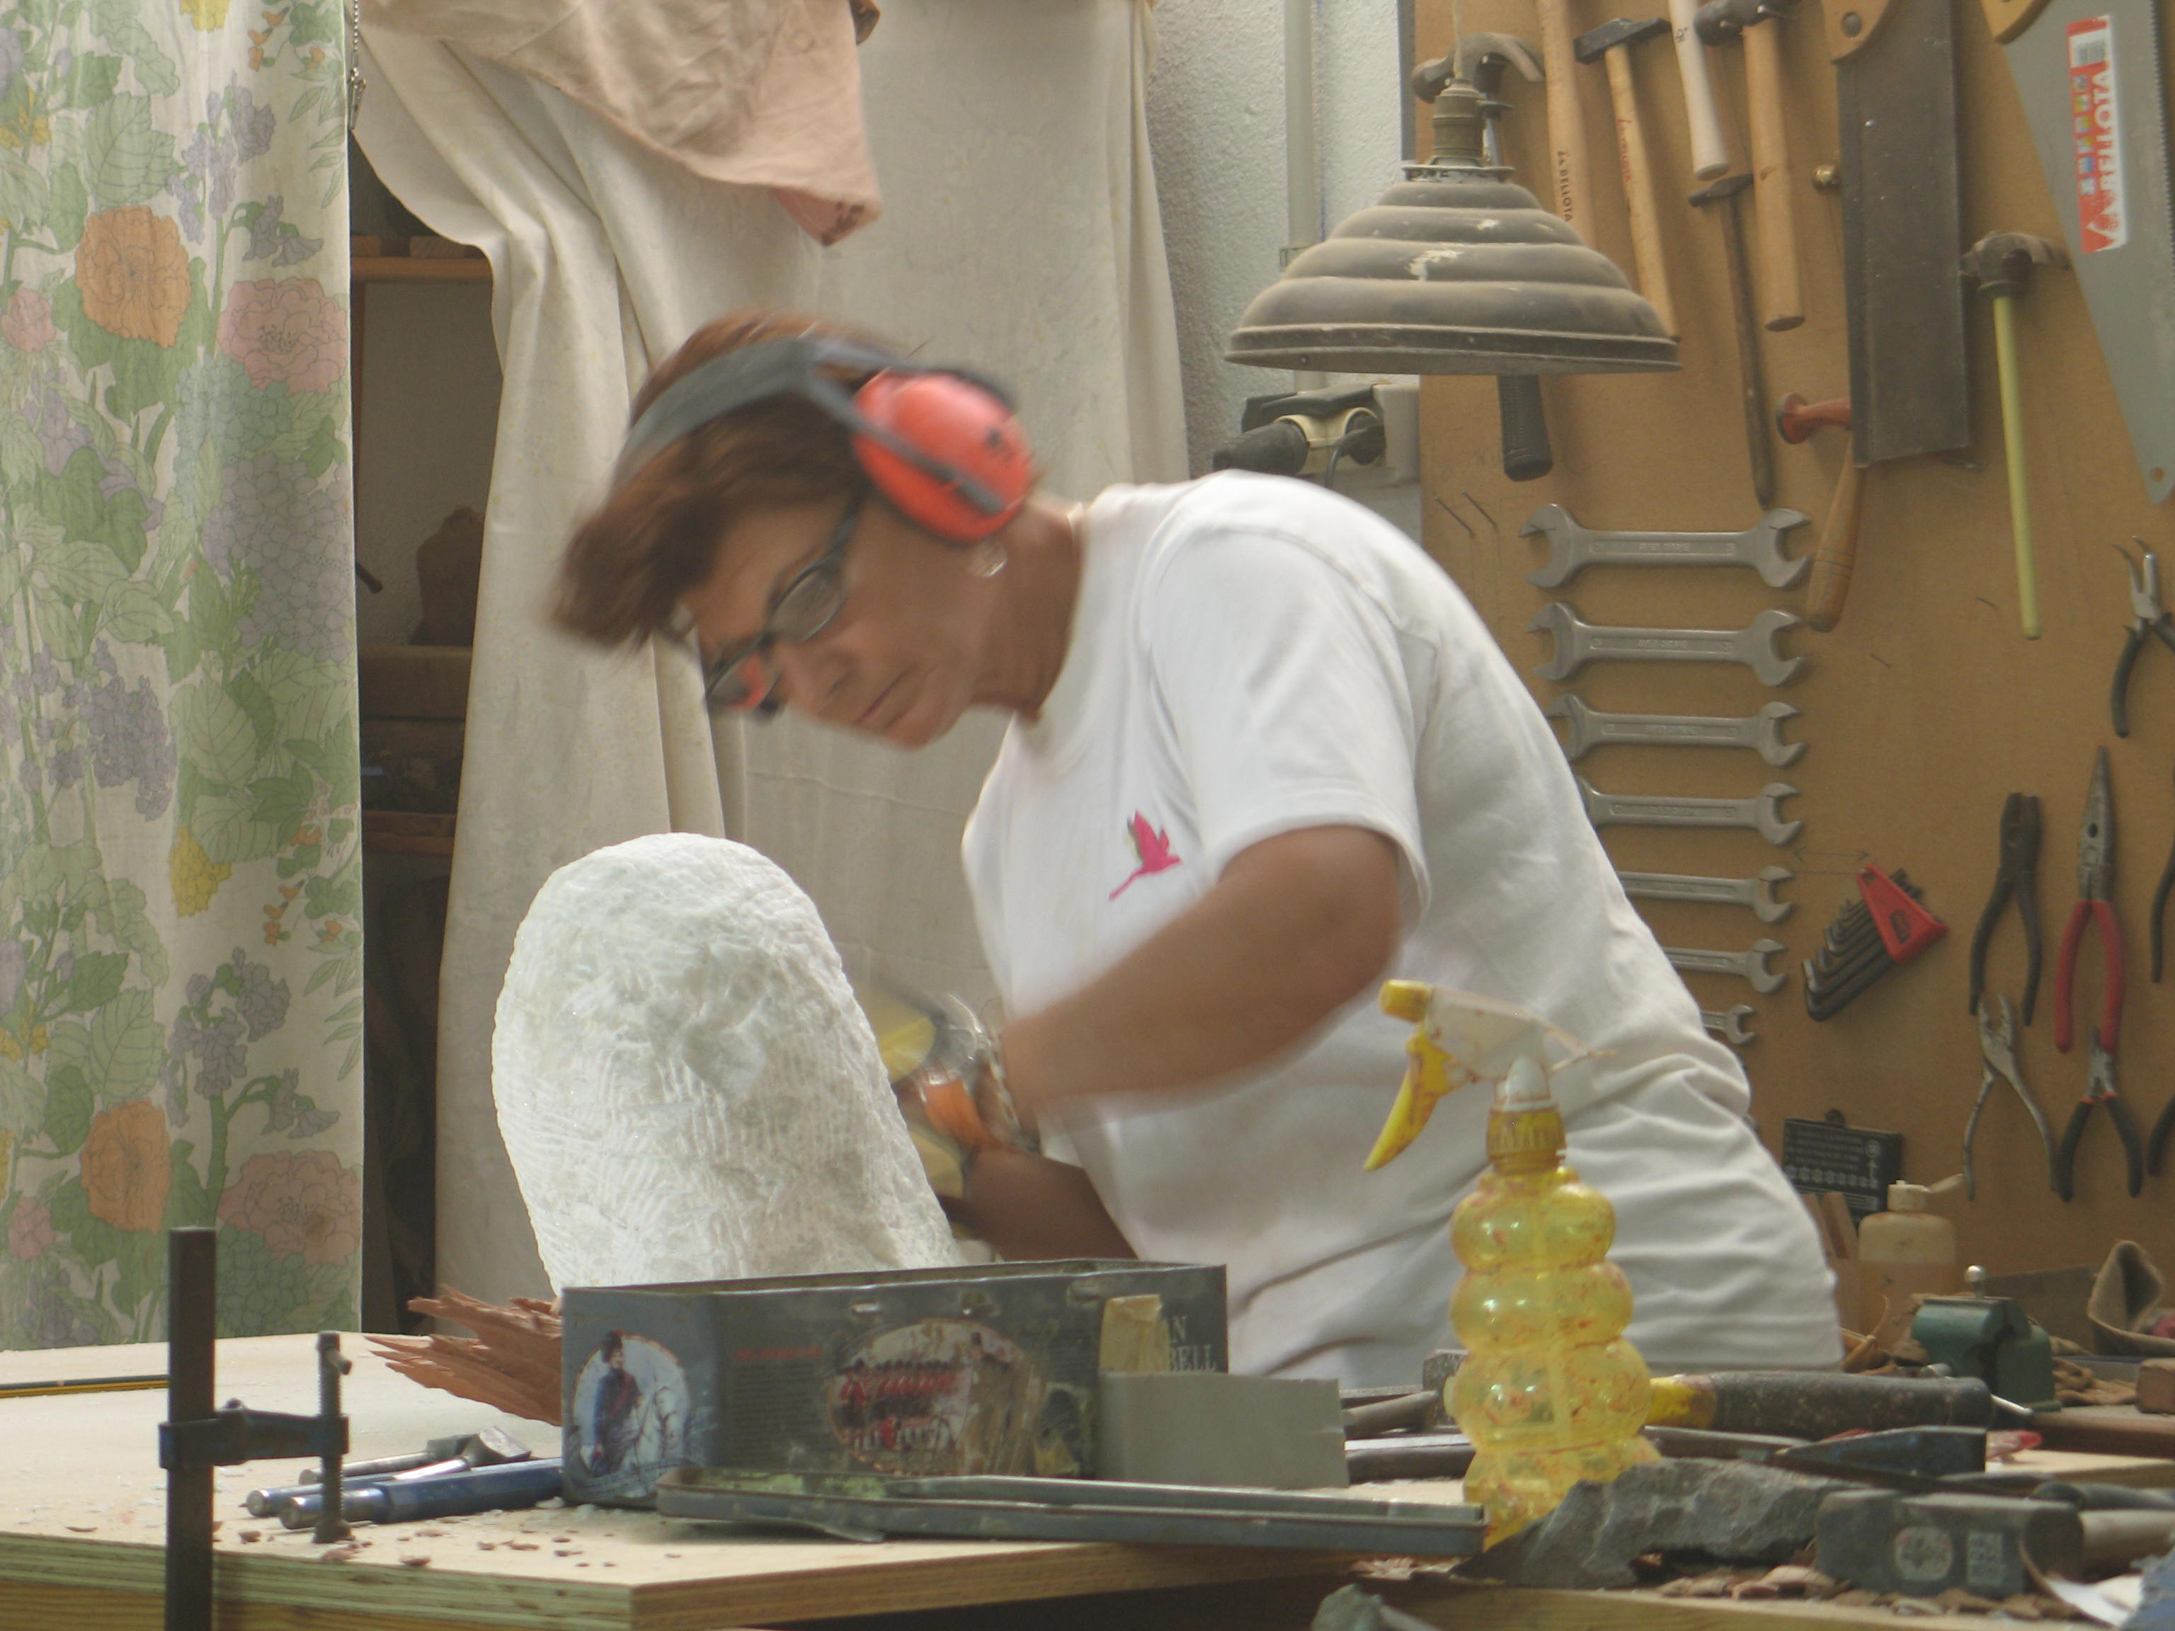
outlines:
[[[885, 217], [824, 257], [822, 309], [1011, 385], [1059, 494], [1183, 481], [1185, 409], [1148, 161], [1146, 0], [916, 0], [861, 50]], [[1003, 720], [898, 752], [746, 731], [744, 837], [846, 968], [990, 994], [959, 831]]]

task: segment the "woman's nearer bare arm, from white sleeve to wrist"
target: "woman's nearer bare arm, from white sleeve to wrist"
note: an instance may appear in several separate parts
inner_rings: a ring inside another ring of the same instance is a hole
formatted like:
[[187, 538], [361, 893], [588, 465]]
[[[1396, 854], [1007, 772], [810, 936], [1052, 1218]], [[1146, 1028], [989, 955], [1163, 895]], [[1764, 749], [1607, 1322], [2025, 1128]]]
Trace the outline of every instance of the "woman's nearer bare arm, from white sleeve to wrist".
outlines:
[[1401, 935], [1388, 837], [1307, 826], [1262, 839], [1096, 981], [1005, 1029], [1011, 1096], [1033, 1122], [1061, 1098], [1257, 1066], [1368, 989]]

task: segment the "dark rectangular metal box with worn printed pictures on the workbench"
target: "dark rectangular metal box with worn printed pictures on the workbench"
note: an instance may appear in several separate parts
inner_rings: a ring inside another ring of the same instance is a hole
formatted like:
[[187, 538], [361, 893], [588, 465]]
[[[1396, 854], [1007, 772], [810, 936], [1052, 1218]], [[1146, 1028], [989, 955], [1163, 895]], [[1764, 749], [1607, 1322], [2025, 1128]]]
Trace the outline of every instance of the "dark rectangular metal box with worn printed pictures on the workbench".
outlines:
[[1103, 1305], [1135, 1296], [1174, 1370], [1227, 1368], [1225, 1272], [1188, 1263], [568, 1287], [568, 1501], [648, 1505], [674, 1466], [1081, 1477]]

